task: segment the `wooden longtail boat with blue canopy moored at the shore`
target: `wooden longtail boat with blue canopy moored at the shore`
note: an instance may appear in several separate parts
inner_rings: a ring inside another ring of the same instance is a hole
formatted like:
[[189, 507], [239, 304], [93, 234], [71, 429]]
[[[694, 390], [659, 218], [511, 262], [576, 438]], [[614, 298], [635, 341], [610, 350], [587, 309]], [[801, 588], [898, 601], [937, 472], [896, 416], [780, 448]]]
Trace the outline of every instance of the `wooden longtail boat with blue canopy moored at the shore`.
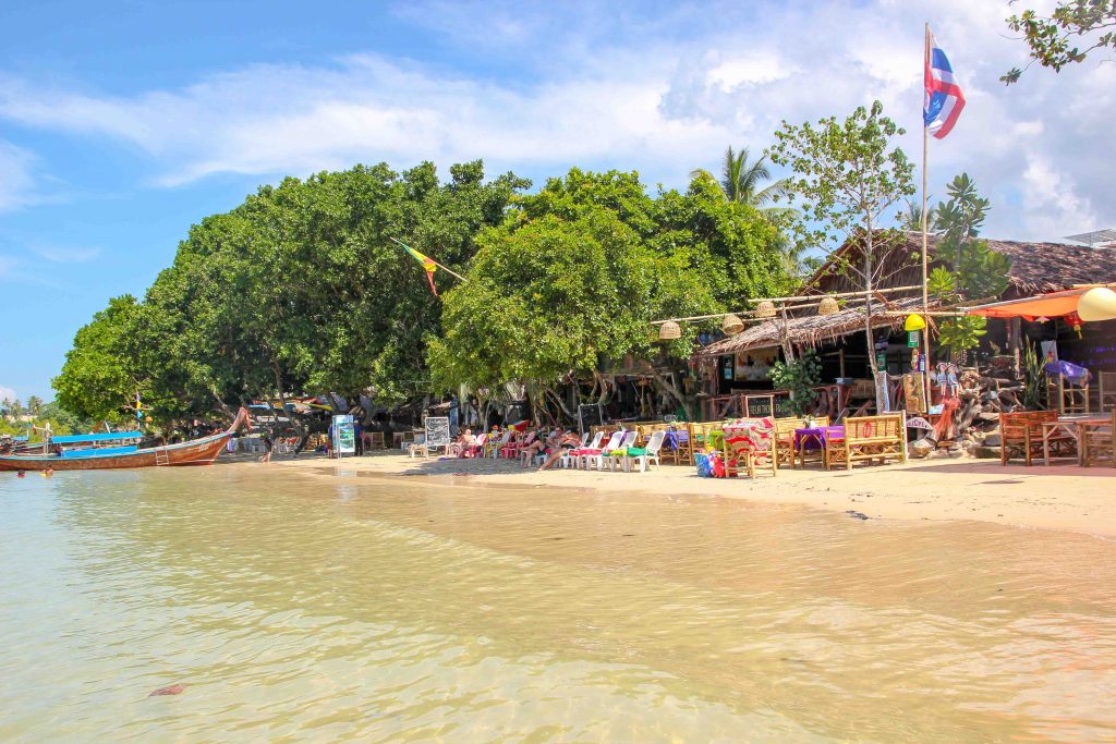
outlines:
[[0, 471], [81, 471], [167, 465], [212, 465], [229, 438], [248, 423], [241, 408], [223, 432], [181, 444], [142, 447], [141, 432], [56, 436], [41, 446], [42, 454], [0, 455]]

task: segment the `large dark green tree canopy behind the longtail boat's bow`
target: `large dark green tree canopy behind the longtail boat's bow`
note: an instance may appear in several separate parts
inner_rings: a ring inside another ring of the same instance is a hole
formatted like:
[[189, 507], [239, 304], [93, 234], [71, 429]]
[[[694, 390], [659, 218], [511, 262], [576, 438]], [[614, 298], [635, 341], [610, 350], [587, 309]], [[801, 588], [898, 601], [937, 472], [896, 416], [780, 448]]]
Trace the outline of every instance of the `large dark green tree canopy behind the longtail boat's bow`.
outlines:
[[[190, 230], [173, 265], [132, 301], [126, 348], [100, 339], [109, 321], [98, 316], [55, 386], [75, 413], [93, 415], [126, 408], [124, 381], [138, 385], [163, 421], [296, 390], [371, 390], [384, 403], [426, 392], [441, 306], [391, 239], [463, 270], [478, 231], [529, 185], [510, 173], [485, 182], [474, 162], [451, 167], [446, 183], [423, 163], [263, 186]], [[446, 289], [452, 279], [440, 272], [437, 281]], [[86, 358], [114, 370], [113, 384], [89, 387]]]

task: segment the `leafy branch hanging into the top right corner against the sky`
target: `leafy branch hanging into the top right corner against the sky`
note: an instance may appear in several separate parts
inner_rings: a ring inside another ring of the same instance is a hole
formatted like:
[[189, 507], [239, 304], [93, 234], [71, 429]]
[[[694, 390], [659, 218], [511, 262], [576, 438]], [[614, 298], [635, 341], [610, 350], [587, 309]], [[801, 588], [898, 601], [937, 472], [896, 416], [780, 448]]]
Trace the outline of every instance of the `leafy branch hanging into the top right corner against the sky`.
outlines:
[[[1116, 50], [1116, 0], [1061, 0], [1050, 16], [1028, 9], [1011, 16], [1008, 27], [1023, 35], [1030, 49], [1028, 67], [1038, 62], [1060, 73], [1097, 49]], [[1022, 74], [1016, 67], [1000, 80], [1011, 85]]]

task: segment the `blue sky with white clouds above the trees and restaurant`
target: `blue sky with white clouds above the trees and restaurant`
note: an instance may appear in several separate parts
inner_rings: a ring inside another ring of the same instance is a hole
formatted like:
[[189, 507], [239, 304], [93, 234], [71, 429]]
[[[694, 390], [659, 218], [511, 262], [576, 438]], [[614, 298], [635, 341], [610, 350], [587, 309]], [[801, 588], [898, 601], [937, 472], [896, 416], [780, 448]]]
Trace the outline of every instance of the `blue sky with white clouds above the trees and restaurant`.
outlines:
[[[1024, 2], [1029, 7], [1050, 0]], [[54, 397], [75, 331], [142, 296], [191, 224], [261, 183], [483, 158], [684, 187], [725, 146], [874, 99], [921, 161], [923, 22], [968, 98], [930, 145], [984, 234], [1116, 226], [1116, 62], [1026, 62], [1001, 0], [84, 2], [0, 7], [0, 397]]]

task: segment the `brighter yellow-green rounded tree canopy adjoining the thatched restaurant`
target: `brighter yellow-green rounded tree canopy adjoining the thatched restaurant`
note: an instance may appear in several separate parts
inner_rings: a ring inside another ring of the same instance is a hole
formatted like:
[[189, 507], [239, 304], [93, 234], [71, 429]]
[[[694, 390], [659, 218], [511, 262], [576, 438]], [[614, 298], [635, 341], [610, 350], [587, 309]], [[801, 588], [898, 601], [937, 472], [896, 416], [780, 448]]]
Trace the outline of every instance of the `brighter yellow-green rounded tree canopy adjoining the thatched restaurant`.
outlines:
[[[554, 386], [602, 359], [657, 354], [650, 321], [740, 309], [787, 281], [781, 234], [715, 183], [647, 194], [635, 173], [571, 170], [482, 232], [445, 298], [435, 383]], [[684, 357], [694, 338], [668, 351]]]

